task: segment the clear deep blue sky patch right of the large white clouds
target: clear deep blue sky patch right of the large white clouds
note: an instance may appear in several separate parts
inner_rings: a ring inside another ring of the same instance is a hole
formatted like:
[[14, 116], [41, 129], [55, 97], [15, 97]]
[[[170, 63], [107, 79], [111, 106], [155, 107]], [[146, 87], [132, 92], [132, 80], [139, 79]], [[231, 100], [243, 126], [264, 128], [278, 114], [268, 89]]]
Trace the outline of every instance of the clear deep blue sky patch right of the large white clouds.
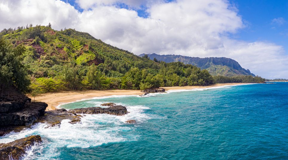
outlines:
[[[240, 0], [231, 1], [238, 8], [247, 27], [233, 35], [244, 41], [269, 41], [288, 50], [288, 1]], [[283, 18], [283, 23], [273, 19]]]

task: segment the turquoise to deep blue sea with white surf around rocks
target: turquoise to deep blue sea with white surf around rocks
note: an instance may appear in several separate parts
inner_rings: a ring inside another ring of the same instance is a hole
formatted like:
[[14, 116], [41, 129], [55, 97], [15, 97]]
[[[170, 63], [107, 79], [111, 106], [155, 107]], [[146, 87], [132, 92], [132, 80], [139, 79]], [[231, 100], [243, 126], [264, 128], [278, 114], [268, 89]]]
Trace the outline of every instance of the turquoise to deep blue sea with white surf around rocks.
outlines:
[[40, 134], [27, 159], [288, 159], [287, 98], [288, 83], [277, 82], [78, 101], [61, 107], [113, 102], [130, 113], [38, 124], [0, 143]]

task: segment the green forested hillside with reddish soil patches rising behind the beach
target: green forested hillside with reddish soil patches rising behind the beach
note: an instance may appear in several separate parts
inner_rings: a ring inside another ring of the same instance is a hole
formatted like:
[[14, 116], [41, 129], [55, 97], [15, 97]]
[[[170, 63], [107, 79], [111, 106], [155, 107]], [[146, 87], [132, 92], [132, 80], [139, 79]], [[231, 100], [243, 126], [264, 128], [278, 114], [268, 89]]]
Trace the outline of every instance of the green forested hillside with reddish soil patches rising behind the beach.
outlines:
[[207, 70], [138, 57], [75, 29], [32, 24], [0, 32], [1, 87], [53, 92], [209, 85]]

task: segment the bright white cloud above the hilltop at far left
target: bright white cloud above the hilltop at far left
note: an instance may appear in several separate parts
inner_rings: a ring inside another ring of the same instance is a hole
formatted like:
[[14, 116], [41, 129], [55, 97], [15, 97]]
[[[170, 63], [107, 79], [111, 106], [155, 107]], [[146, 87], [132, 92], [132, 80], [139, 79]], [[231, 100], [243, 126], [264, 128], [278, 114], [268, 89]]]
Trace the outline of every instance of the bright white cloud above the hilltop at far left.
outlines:
[[0, 28], [18, 27], [26, 24], [47, 25], [49, 22], [56, 29], [70, 27], [79, 21], [79, 12], [73, 6], [60, 0], [0, 0]]

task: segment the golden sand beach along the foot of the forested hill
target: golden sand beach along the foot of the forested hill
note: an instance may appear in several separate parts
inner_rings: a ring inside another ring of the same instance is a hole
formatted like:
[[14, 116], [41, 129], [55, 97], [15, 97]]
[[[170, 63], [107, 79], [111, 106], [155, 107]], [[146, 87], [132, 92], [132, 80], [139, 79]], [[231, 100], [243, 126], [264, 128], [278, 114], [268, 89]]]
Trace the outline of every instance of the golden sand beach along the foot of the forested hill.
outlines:
[[[199, 88], [211, 88], [211, 87], [221, 87], [221, 86], [235, 86], [241, 84], [249, 83], [221, 83], [213, 84], [209, 86], [184, 86], [184, 87], [161, 87], [166, 91], [169, 90], [191, 90]], [[142, 95], [144, 94], [141, 90], [85, 90], [85, 91], [61, 91], [56, 93], [43, 93], [35, 97], [35, 102], [45, 102], [48, 104], [47, 110], [55, 110], [56, 107], [61, 104], [72, 103], [76, 101], [81, 101], [85, 99], [93, 99], [95, 97], [104, 97], [104, 96], [124, 96], [124, 95]], [[33, 101], [34, 98], [30, 95], [27, 95]]]

